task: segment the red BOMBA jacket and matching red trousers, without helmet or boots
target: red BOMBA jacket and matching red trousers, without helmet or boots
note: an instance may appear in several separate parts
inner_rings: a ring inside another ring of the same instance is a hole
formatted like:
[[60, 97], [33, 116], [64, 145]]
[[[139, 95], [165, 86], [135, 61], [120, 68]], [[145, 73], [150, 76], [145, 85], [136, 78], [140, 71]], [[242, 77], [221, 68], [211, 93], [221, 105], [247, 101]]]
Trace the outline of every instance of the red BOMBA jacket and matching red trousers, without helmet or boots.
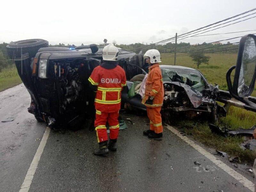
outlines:
[[92, 85], [97, 85], [95, 98], [96, 119], [94, 122], [98, 142], [108, 140], [106, 122], [110, 129], [110, 139], [117, 139], [119, 132], [118, 112], [121, 107], [121, 91], [126, 86], [124, 69], [116, 66], [107, 69], [101, 66], [94, 68], [88, 79]]

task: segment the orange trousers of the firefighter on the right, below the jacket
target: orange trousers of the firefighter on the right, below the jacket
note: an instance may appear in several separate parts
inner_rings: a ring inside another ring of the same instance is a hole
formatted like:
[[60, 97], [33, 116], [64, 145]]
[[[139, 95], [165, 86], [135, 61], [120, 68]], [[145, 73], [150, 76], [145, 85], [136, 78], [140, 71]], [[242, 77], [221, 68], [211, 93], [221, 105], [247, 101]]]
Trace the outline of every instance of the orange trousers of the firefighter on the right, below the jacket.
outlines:
[[161, 118], [161, 107], [150, 108], [147, 107], [148, 118], [150, 120], [150, 130], [155, 133], [163, 132], [162, 118]]

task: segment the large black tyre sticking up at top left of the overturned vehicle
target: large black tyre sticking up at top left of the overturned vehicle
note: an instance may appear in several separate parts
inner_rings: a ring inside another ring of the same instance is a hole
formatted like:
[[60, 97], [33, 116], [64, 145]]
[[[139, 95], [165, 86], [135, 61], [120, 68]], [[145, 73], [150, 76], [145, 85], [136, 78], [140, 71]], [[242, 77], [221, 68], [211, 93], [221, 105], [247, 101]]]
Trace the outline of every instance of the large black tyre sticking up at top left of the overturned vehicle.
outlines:
[[8, 55], [11, 59], [15, 57], [21, 57], [22, 54], [28, 53], [29, 57], [34, 57], [38, 49], [42, 47], [48, 47], [48, 41], [44, 39], [27, 39], [21, 41], [11, 42], [6, 46]]

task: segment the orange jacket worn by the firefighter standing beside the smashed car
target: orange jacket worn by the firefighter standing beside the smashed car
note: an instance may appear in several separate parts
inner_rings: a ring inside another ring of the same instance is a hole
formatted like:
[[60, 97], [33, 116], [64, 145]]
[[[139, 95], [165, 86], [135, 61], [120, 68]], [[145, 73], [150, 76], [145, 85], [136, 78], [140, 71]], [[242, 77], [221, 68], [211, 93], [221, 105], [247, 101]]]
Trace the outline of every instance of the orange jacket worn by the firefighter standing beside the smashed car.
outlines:
[[[148, 97], [154, 97], [153, 105], [145, 104]], [[156, 63], [149, 67], [148, 78], [146, 81], [146, 91], [145, 96], [142, 99], [142, 104], [147, 107], [160, 107], [163, 105], [164, 101], [164, 85], [163, 85], [163, 77], [161, 70], [159, 68], [159, 64]]]

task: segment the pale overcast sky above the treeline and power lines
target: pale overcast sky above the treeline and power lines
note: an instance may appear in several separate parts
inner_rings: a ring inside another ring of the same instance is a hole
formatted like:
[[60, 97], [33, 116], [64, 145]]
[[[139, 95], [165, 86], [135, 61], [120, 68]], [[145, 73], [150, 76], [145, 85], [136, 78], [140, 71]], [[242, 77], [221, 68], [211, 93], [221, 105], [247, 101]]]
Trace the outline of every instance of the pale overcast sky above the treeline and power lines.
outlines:
[[[32, 38], [42, 38], [50, 44], [100, 44], [104, 38], [108, 43], [116, 40], [117, 44], [151, 43], [255, 7], [256, 0], [5, 0], [0, 10], [0, 43]], [[256, 18], [205, 34], [253, 29], [256, 30]], [[212, 42], [246, 33], [249, 32], [181, 41]]]

